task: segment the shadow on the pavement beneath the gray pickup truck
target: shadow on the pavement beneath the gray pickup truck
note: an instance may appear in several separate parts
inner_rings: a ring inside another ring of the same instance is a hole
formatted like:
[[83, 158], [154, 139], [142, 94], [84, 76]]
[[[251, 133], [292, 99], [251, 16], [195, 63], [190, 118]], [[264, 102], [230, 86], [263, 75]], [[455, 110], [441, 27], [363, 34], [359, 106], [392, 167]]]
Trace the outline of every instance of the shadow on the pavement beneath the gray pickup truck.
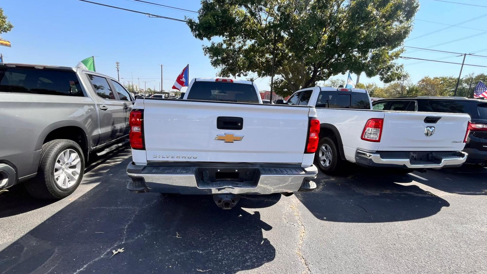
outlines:
[[[113, 157], [127, 155], [127, 146], [117, 148], [104, 157], [92, 156], [85, 167], [85, 176], [97, 166], [105, 163]], [[19, 215], [25, 212], [36, 210], [55, 203], [56, 199], [36, 199], [30, 196], [22, 184], [15, 185], [8, 189], [8, 192], [0, 194], [1, 204], [8, 205], [0, 208], [0, 218]]]

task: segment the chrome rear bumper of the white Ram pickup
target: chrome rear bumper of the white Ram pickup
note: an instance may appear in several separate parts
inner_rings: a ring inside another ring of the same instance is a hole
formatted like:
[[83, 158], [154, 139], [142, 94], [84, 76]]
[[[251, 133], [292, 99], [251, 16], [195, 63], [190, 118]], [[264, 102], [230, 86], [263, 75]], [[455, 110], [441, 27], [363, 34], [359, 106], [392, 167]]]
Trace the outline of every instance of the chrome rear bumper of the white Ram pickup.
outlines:
[[468, 156], [465, 152], [418, 152], [429, 154], [428, 158], [430, 160], [412, 161], [408, 157], [411, 153], [414, 152], [387, 152], [381, 154], [357, 150], [356, 162], [361, 165], [377, 167], [442, 168], [446, 166], [460, 166], [467, 160]]

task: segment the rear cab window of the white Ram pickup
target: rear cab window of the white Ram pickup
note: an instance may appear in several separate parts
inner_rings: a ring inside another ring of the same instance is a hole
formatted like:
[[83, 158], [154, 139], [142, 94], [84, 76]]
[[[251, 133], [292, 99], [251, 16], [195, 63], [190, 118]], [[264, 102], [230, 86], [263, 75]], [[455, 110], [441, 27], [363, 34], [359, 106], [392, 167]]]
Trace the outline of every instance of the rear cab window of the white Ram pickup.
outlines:
[[370, 100], [362, 92], [320, 91], [316, 107], [370, 109]]

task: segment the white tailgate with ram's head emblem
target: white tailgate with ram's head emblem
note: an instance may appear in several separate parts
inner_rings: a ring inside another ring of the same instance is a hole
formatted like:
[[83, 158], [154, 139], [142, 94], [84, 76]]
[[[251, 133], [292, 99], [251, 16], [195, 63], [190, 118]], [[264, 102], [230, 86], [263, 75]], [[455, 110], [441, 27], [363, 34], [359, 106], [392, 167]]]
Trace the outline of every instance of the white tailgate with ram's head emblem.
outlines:
[[469, 120], [468, 114], [384, 111], [378, 150], [461, 151]]

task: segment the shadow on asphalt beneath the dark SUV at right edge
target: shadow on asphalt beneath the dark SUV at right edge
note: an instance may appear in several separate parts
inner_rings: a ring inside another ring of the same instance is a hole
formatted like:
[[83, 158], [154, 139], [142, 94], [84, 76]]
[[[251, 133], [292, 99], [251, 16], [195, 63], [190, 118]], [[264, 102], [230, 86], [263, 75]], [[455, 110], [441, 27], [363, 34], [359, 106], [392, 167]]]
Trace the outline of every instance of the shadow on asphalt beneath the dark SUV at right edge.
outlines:
[[457, 168], [444, 168], [428, 171], [416, 179], [422, 184], [448, 193], [460, 195], [487, 195], [487, 168], [463, 165]]

